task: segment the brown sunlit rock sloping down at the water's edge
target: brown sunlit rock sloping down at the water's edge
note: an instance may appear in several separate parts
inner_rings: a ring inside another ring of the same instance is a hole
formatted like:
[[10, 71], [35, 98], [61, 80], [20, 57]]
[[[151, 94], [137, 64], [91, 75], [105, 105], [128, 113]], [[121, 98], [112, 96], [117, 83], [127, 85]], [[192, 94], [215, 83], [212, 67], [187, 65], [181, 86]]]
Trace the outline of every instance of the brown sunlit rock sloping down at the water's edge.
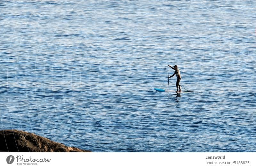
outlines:
[[0, 131], [0, 144], [0, 151], [6, 152], [92, 152], [19, 130]]

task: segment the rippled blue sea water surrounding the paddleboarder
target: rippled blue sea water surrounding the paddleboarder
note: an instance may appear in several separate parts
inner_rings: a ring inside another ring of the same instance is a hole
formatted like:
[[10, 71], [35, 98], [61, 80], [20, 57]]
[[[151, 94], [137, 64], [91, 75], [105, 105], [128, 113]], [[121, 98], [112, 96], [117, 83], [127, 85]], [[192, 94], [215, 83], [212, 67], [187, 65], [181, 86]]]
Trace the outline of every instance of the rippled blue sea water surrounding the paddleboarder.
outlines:
[[[256, 152], [255, 9], [0, 1], [0, 129], [94, 152]], [[156, 92], [168, 65], [196, 92]]]

